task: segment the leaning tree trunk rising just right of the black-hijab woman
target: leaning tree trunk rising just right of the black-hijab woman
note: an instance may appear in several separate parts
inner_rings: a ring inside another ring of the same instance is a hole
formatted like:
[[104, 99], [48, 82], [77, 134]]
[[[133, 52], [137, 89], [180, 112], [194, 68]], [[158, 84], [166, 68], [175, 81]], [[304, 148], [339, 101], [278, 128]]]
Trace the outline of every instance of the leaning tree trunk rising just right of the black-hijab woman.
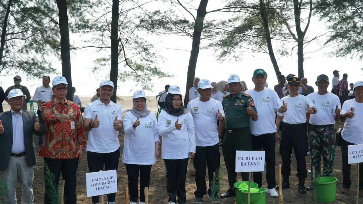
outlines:
[[197, 65], [199, 46], [200, 46], [200, 36], [203, 31], [204, 17], [207, 14], [207, 4], [208, 0], [200, 0], [199, 7], [197, 10], [197, 17], [194, 23], [193, 32], [193, 42], [192, 50], [190, 52], [189, 65], [188, 65], [188, 75], [187, 75], [187, 86], [185, 90], [184, 106], [187, 107], [189, 102], [189, 89], [193, 87], [193, 79], [195, 77], [195, 68]]

